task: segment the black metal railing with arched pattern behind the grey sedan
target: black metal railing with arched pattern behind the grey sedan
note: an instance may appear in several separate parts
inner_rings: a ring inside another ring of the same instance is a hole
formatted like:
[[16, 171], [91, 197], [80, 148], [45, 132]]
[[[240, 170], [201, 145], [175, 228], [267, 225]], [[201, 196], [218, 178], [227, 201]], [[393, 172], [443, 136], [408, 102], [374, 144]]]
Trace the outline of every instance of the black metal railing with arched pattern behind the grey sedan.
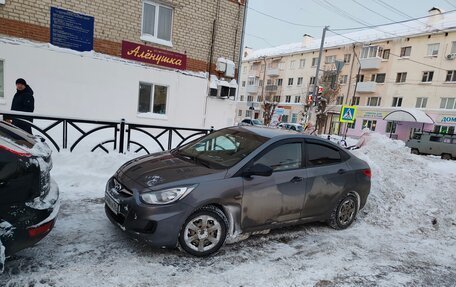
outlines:
[[[213, 131], [135, 124], [124, 119], [109, 122], [1, 111], [0, 115], [30, 124], [33, 134], [44, 138], [57, 151], [72, 152], [83, 146], [90, 151], [101, 149], [106, 153], [110, 150], [151, 153], [181, 146]], [[33, 122], [24, 118], [32, 118]]]

